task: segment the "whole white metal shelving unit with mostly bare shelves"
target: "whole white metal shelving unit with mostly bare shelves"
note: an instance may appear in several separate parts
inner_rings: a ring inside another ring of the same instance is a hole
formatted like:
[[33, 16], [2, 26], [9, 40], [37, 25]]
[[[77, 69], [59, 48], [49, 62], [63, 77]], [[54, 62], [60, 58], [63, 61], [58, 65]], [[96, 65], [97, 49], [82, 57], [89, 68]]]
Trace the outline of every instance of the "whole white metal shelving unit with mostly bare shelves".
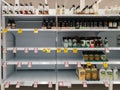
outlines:
[[[57, 2], [57, 0], [55, 0]], [[57, 4], [57, 3], [55, 3]], [[0, 1], [0, 5], [1, 1]], [[0, 7], [1, 8], [1, 7]], [[2, 25], [0, 26], [4, 32], [8, 19], [15, 19], [17, 24], [24, 24], [27, 26], [27, 21], [40, 21], [42, 23], [43, 18], [52, 18], [58, 24], [59, 18], [120, 18], [120, 15], [23, 15], [23, 14], [0, 14], [2, 17]], [[1, 18], [0, 18], [1, 19]], [[34, 24], [30, 24], [31, 26]], [[2, 32], [1, 30], [1, 32]], [[22, 30], [22, 33], [18, 33], [18, 30]], [[37, 33], [34, 33], [37, 30]], [[8, 29], [3, 34], [3, 58], [2, 71], [0, 72], [0, 84], [1, 90], [5, 90], [6, 83], [9, 85], [20, 86], [33, 86], [35, 82], [38, 85], [55, 85], [55, 90], [59, 90], [60, 83], [63, 82], [63, 86], [71, 86], [72, 84], [83, 84], [86, 82], [89, 84], [104, 85], [104, 81], [80, 81], [76, 74], [76, 67], [80, 64], [96, 64], [98, 68], [103, 63], [109, 64], [111, 67], [117, 66], [120, 69], [120, 47], [116, 45], [116, 36], [120, 35], [120, 28], [118, 29], [106, 29], [106, 28], [84, 28], [84, 29], [61, 29], [56, 25], [55, 29], [42, 29], [39, 28], [25, 28], [17, 26], [16, 29]], [[63, 37], [68, 36], [100, 36], [102, 38], [108, 37], [110, 42], [109, 47], [100, 48], [64, 48]], [[111, 36], [113, 35], [113, 36]], [[1, 42], [1, 41], [0, 41]], [[57, 49], [61, 52], [57, 53]], [[65, 53], [64, 50], [68, 52]], [[78, 53], [73, 53], [73, 50], [77, 49]], [[106, 49], [110, 51], [107, 53]], [[1, 50], [1, 48], [0, 48]], [[15, 50], [15, 53], [13, 51]], [[27, 50], [27, 53], [25, 52]], [[37, 50], [37, 53], [34, 51]], [[48, 50], [47, 52], [44, 50]], [[83, 60], [82, 51], [103, 51], [106, 52], [108, 61], [105, 62], [85, 62]], [[66, 66], [65, 64], [68, 64]], [[1, 67], [0, 67], [1, 70]], [[1, 76], [3, 74], [3, 77]], [[2, 80], [1, 80], [2, 79]], [[113, 90], [114, 84], [120, 84], [119, 80], [110, 81], [108, 90]]]

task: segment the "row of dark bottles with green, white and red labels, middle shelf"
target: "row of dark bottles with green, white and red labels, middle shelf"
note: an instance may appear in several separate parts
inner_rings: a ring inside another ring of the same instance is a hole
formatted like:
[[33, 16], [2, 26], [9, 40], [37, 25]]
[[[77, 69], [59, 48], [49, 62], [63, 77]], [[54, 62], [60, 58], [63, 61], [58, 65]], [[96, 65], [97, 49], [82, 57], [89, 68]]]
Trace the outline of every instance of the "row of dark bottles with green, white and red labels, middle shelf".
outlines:
[[67, 47], [108, 47], [107, 37], [104, 40], [101, 37], [63, 37], [63, 46]]

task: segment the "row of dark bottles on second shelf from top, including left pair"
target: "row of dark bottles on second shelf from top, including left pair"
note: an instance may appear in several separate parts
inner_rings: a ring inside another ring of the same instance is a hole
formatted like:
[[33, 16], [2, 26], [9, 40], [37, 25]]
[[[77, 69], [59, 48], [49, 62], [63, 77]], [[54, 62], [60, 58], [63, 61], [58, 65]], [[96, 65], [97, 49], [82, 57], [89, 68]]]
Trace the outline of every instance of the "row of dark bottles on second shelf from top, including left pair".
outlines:
[[[57, 25], [58, 24], [58, 25]], [[56, 23], [55, 19], [43, 19], [39, 27], [42, 29], [55, 29], [56, 26], [60, 29], [117, 29], [120, 28], [119, 19], [112, 20], [93, 20], [93, 19], [59, 19]], [[16, 21], [8, 19], [6, 28], [16, 28]]]

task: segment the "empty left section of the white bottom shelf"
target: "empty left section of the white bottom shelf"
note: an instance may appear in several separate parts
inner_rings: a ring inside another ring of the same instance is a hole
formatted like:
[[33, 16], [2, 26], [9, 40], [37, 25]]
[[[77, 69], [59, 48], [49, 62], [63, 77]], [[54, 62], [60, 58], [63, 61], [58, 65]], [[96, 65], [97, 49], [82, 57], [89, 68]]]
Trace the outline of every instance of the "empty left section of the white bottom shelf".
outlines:
[[16, 85], [17, 82], [21, 83], [21, 86], [32, 86], [34, 82], [37, 81], [38, 84], [48, 84], [52, 82], [56, 83], [56, 73], [55, 71], [16, 71], [10, 75], [6, 82], [10, 82], [10, 85]]

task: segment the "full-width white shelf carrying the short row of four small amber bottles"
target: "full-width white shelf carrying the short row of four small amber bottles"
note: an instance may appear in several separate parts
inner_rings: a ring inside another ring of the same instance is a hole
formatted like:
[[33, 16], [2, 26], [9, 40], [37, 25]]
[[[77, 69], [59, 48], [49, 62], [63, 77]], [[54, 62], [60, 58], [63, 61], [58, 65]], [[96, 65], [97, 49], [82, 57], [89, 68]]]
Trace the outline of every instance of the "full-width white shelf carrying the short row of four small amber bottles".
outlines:
[[[56, 58], [57, 59], [57, 58]], [[108, 64], [115, 64], [115, 65], [119, 65], [120, 64], [120, 60], [119, 59], [108, 59], [108, 61], [88, 61], [85, 62], [83, 59], [8, 59], [7, 60], [7, 64], [8, 65], [13, 65], [13, 64], [18, 64], [19, 62], [22, 62], [22, 65], [27, 65], [28, 62], [32, 62], [33, 65], [53, 65], [53, 64], [65, 64], [65, 62], [68, 62], [68, 64], [70, 65], [77, 65], [77, 64], [87, 64], [87, 63], [91, 63], [91, 64], [96, 64], [96, 65], [102, 65], [104, 62], [108, 63]]]

